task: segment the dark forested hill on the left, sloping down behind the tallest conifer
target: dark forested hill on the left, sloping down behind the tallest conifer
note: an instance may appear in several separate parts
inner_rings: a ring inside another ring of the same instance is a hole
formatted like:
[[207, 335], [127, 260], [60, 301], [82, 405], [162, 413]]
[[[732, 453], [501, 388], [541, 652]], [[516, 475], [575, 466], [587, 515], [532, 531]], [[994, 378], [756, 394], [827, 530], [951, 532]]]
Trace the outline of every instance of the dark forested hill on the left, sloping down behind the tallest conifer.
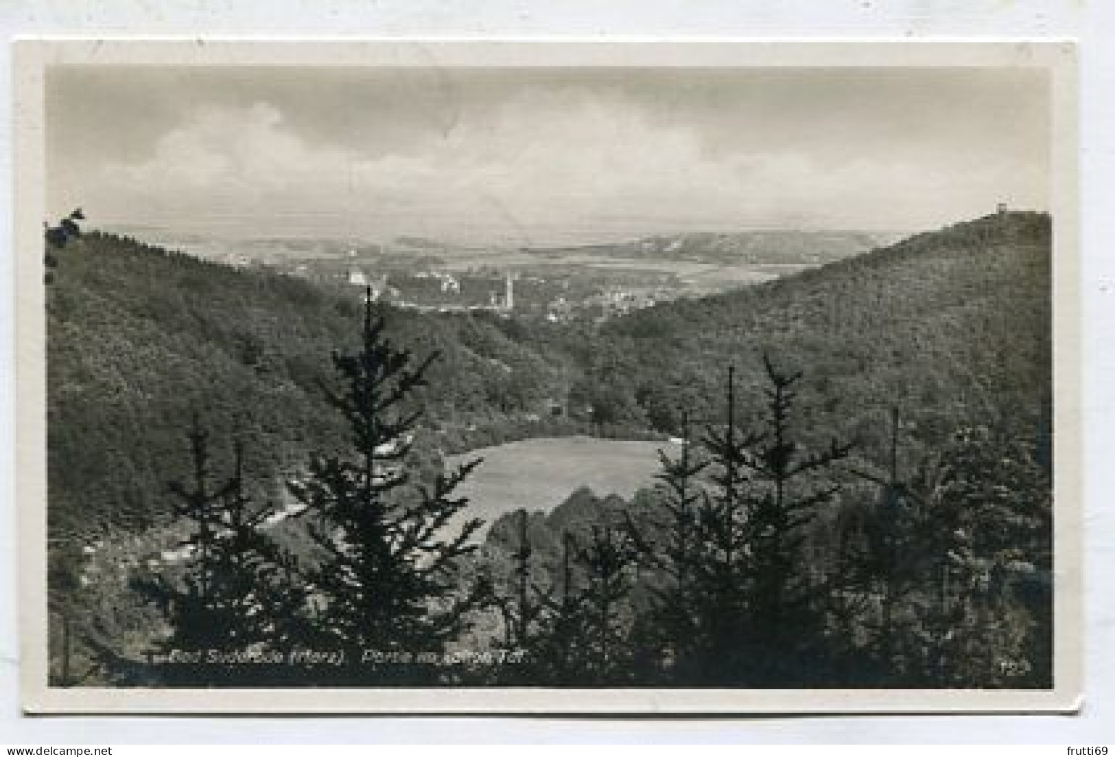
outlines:
[[[188, 465], [196, 413], [215, 460], [246, 446], [250, 477], [279, 475], [343, 444], [319, 382], [330, 355], [359, 340], [361, 292], [328, 291], [263, 269], [237, 270], [90, 233], [58, 253], [48, 288], [49, 495], [55, 533], [142, 528], [166, 517], [167, 482]], [[524, 346], [489, 316], [390, 310], [388, 330], [424, 358], [437, 441], [460, 446], [568, 392], [572, 367]], [[515, 429], [511, 429], [514, 431]], [[527, 431], [518, 429], [520, 435]], [[226, 470], [217, 469], [216, 475]]]

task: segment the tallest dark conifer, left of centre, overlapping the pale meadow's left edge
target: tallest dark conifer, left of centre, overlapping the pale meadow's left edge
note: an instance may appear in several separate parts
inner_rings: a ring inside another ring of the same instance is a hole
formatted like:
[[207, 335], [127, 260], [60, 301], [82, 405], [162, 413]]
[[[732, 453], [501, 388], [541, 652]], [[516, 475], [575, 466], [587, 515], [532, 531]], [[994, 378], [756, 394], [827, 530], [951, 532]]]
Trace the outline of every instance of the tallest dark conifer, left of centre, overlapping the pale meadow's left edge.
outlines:
[[467, 625], [467, 614], [489, 602], [482, 584], [458, 586], [459, 560], [476, 549], [471, 520], [454, 534], [446, 526], [467, 505], [457, 486], [479, 464], [410, 485], [408, 458], [420, 413], [407, 409], [437, 359], [416, 366], [385, 334], [384, 319], [366, 298], [360, 348], [334, 353], [339, 388], [327, 399], [349, 427], [350, 450], [316, 455], [308, 474], [291, 482], [307, 506], [310, 534], [323, 556], [309, 579], [323, 638], [352, 664], [341, 677], [408, 680], [425, 666], [361, 666], [363, 650], [439, 652]]

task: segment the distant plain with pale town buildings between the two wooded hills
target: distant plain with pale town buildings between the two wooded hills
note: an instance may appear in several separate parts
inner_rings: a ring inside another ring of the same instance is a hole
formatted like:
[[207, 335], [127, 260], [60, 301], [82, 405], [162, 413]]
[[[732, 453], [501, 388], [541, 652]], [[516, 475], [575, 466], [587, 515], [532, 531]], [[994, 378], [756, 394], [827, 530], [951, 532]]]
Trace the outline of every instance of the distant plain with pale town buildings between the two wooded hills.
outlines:
[[[149, 234], [147, 234], [149, 236]], [[318, 284], [370, 290], [421, 312], [603, 322], [660, 302], [760, 283], [889, 241], [862, 232], [679, 234], [573, 248], [486, 249], [423, 237], [163, 241], [235, 268], [263, 266]]]

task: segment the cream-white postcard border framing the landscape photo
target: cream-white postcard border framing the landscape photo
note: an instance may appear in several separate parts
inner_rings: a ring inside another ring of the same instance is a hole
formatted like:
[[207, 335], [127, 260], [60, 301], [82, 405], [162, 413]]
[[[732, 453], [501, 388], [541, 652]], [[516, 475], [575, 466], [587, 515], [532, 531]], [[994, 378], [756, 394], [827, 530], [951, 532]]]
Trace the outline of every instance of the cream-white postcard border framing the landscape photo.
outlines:
[[[745, 689], [105, 689], [47, 686], [45, 71], [49, 66], [1000, 67], [1051, 75], [1055, 390], [1054, 688]], [[1083, 691], [1083, 470], [1076, 48], [1069, 40], [388, 40], [85, 39], [14, 45], [14, 269], [19, 614], [31, 714], [1074, 712]]]

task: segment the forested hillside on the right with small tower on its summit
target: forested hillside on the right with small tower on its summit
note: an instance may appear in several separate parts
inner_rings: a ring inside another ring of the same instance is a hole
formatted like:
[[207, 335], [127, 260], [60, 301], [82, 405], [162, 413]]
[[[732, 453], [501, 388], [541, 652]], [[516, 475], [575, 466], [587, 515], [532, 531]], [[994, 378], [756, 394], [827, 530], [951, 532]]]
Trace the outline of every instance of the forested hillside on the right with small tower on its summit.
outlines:
[[[804, 371], [806, 426], [882, 446], [885, 411], [935, 446], [960, 425], [1040, 438], [1050, 380], [1050, 219], [1006, 213], [849, 260], [607, 324], [586, 392], [677, 429], [723, 417], [735, 363], [762, 401], [762, 353]], [[812, 417], [809, 417], [812, 416]]]

